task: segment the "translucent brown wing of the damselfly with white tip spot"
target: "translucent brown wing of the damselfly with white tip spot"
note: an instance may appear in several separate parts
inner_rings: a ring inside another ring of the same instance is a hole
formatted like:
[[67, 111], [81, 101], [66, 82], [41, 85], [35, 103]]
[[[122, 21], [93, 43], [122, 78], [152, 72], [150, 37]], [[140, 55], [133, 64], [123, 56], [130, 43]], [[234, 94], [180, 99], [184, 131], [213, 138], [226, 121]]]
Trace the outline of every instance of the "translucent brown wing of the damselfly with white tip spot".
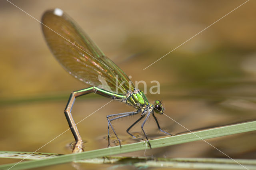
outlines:
[[42, 31], [56, 59], [80, 81], [117, 94], [134, 89], [124, 71], [62, 10], [48, 10], [43, 14]]

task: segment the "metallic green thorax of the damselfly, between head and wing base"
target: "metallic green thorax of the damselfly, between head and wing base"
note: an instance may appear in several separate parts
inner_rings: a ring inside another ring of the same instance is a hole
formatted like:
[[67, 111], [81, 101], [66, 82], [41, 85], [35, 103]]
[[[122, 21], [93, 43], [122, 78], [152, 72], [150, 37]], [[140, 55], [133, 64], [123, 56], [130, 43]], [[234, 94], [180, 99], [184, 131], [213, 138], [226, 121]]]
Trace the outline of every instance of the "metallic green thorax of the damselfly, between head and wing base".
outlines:
[[139, 89], [135, 89], [134, 91], [129, 91], [126, 93], [126, 103], [134, 106], [134, 107], [143, 107], [148, 105], [148, 99], [144, 95], [143, 91]]

